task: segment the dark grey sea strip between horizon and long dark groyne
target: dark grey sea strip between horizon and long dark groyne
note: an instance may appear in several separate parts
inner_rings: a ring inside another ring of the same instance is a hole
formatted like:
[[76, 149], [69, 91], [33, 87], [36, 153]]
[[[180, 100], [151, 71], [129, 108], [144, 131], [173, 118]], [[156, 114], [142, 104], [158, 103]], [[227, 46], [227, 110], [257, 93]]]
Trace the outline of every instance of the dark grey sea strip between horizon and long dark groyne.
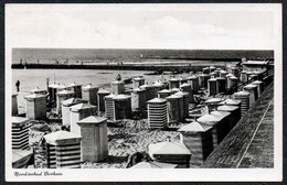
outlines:
[[[12, 63], [117, 63], [145, 62], [145, 59], [208, 59], [210, 58], [274, 57], [274, 51], [227, 50], [113, 50], [113, 48], [13, 48]], [[162, 61], [161, 61], [162, 62]], [[174, 61], [178, 63], [180, 61]]]

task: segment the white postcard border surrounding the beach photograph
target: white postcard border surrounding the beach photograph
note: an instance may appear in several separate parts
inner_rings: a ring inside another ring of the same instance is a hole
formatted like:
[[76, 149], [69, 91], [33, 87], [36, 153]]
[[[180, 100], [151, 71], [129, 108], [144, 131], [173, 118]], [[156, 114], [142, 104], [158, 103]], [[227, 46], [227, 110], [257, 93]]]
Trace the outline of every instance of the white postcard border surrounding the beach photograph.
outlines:
[[[6, 4], [6, 12], [9, 8], [20, 4]], [[43, 4], [25, 4], [25, 6], [43, 6]], [[45, 4], [47, 6], [47, 4]], [[64, 4], [50, 4], [64, 6]], [[94, 6], [94, 4], [75, 4]], [[97, 4], [95, 4], [97, 6]], [[113, 4], [115, 6], [115, 4]], [[116, 4], [121, 6], [121, 4]], [[124, 4], [129, 6], [129, 4]], [[132, 4], [138, 9], [145, 6], [155, 4]], [[131, 6], [131, 7], [132, 7]], [[170, 6], [170, 4], [160, 4]], [[216, 10], [234, 10], [234, 9], [251, 9], [256, 11], [273, 11], [274, 12], [274, 33], [276, 47], [275, 53], [275, 106], [274, 106], [274, 168], [177, 168], [177, 170], [117, 170], [117, 168], [100, 168], [100, 170], [15, 170], [11, 167], [11, 129], [10, 129], [10, 112], [11, 112], [11, 43], [10, 33], [6, 32], [6, 179], [9, 182], [279, 182], [283, 179], [283, 34], [281, 34], [281, 4], [172, 4], [171, 9], [192, 9], [204, 8], [208, 11]], [[123, 7], [125, 9], [125, 7]], [[7, 22], [6, 30], [12, 24]], [[56, 172], [62, 173], [61, 176], [21, 176], [15, 177], [14, 172]]]

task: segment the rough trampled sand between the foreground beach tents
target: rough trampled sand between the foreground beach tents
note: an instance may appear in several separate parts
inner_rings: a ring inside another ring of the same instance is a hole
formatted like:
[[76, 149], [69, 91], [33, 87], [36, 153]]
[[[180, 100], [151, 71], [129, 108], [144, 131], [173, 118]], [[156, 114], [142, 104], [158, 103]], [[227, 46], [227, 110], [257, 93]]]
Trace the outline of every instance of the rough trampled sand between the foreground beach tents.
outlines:
[[[35, 168], [46, 168], [45, 150], [43, 145], [35, 144], [35, 142], [41, 140], [44, 131], [51, 129], [53, 132], [60, 130], [60, 128], [61, 123], [57, 122], [32, 122], [30, 144], [34, 145]], [[98, 163], [83, 162], [82, 168], [125, 168], [129, 154], [135, 152], [148, 153], [149, 144], [166, 141], [168, 138], [171, 141], [179, 141], [180, 133], [177, 131], [148, 129], [146, 119], [139, 122], [125, 120], [125, 124], [110, 124], [108, 127], [107, 160]]]

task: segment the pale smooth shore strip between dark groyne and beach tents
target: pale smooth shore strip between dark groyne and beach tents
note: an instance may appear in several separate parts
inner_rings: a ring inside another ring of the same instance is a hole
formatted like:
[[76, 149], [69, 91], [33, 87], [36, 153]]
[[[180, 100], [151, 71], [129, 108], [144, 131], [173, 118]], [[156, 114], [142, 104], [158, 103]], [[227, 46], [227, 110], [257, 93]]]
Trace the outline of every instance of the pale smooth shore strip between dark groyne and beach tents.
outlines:
[[[15, 81], [20, 80], [20, 92], [18, 95], [18, 106], [20, 112], [24, 111], [24, 96], [30, 95], [30, 90], [40, 88], [46, 89], [46, 78], [50, 84], [60, 83], [61, 85], [70, 85], [72, 83], [79, 85], [88, 85], [89, 83], [100, 88], [110, 89], [110, 83], [116, 80], [116, 76], [120, 74], [121, 79], [129, 77], [144, 76], [147, 83], [153, 83], [159, 79], [168, 80], [170, 75], [144, 75], [145, 70], [103, 70], [103, 69], [12, 69], [12, 92], [17, 91]], [[178, 76], [188, 76], [180, 74]], [[132, 85], [126, 85], [131, 87]]]

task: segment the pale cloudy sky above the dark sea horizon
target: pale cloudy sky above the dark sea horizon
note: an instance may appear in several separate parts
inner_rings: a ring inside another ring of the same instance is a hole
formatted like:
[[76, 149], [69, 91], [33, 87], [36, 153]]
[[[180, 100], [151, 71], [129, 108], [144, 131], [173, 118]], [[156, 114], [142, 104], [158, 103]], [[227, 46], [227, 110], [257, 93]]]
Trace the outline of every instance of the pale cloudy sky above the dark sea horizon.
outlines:
[[270, 4], [7, 4], [10, 47], [273, 50]]

